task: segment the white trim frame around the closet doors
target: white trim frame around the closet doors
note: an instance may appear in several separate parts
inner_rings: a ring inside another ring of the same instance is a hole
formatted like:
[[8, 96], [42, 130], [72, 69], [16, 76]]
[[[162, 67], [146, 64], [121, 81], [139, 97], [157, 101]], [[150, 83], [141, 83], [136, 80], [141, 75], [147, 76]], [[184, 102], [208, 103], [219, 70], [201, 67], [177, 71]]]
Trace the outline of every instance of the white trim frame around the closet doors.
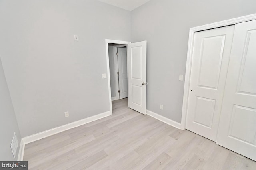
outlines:
[[192, 65], [192, 54], [194, 46], [194, 34], [198, 31], [209, 30], [213, 28], [223, 27], [234, 25], [240, 22], [247, 22], [251, 20], [256, 20], [256, 14], [246, 15], [238, 18], [233, 18], [229, 20], [224, 20], [220, 22], [214, 22], [212, 24], [206, 24], [202, 26], [197, 26], [189, 29], [188, 37], [188, 53], [187, 53], [187, 62], [186, 62], [186, 72], [185, 72], [185, 81], [184, 81], [184, 93], [183, 93], [183, 103], [182, 103], [182, 116], [181, 116], [181, 129], [186, 129], [186, 117], [188, 109], [188, 94], [190, 90], [190, 75], [191, 75], [191, 65]]

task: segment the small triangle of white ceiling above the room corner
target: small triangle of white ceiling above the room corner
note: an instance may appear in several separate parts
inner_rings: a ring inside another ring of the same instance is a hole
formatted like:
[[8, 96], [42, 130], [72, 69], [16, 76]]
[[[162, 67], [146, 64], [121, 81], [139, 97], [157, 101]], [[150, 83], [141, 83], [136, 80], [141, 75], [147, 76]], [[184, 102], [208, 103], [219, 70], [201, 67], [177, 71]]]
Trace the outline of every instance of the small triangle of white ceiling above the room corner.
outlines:
[[132, 11], [135, 8], [145, 4], [150, 0], [98, 0], [106, 4], [110, 4], [119, 8], [123, 8], [128, 11]]

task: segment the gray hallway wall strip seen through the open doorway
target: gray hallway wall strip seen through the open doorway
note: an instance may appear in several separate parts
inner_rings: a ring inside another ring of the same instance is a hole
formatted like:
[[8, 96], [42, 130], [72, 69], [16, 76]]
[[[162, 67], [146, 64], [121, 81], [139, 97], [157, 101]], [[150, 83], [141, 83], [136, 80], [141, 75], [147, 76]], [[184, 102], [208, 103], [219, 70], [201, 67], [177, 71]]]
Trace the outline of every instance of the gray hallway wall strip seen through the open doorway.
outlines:
[[116, 77], [114, 71], [114, 49], [113, 46], [108, 46], [108, 56], [109, 56], [109, 71], [110, 71], [110, 87], [111, 87], [111, 97], [116, 97]]

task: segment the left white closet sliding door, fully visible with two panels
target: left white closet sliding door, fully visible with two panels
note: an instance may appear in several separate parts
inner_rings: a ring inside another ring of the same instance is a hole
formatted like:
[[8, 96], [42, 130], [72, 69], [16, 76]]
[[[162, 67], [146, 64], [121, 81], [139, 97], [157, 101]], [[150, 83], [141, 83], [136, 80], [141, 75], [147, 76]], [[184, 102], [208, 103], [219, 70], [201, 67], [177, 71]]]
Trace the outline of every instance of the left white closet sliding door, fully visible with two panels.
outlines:
[[216, 141], [234, 26], [196, 32], [186, 129]]

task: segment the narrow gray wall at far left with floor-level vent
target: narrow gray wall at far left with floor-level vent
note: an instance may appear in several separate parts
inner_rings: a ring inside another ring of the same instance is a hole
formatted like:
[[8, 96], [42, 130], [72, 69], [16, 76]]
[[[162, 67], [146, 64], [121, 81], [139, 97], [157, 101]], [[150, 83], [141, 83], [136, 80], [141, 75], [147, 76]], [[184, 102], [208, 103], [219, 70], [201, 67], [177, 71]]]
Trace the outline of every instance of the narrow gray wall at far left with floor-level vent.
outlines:
[[0, 160], [17, 160], [19, 147], [15, 158], [12, 156], [11, 142], [14, 132], [19, 140], [20, 145], [20, 130], [15, 117], [12, 100], [9, 89], [4, 76], [4, 70], [0, 59]]

